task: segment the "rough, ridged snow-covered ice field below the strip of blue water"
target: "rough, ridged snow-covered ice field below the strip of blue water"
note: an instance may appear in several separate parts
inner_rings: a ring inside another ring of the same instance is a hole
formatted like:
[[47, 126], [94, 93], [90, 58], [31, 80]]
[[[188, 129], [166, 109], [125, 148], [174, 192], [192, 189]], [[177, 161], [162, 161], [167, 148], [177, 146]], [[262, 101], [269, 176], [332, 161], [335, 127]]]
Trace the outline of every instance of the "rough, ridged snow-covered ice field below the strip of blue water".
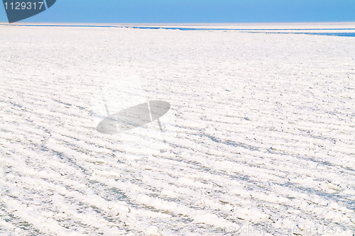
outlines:
[[[354, 235], [355, 38], [0, 35], [0, 235]], [[148, 99], [163, 132], [97, 131]]]

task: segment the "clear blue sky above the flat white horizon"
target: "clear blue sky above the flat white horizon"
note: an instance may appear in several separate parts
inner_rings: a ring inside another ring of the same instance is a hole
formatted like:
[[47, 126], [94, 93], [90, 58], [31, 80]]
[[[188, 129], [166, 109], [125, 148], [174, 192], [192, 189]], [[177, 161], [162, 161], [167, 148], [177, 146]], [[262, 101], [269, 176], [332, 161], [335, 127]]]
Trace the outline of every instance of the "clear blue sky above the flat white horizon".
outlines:
[[[7, 21], [0, 6], [0, 21]], [[25, 22], [248, 23], [355, 21], [355, 0], [57, 0]]]

